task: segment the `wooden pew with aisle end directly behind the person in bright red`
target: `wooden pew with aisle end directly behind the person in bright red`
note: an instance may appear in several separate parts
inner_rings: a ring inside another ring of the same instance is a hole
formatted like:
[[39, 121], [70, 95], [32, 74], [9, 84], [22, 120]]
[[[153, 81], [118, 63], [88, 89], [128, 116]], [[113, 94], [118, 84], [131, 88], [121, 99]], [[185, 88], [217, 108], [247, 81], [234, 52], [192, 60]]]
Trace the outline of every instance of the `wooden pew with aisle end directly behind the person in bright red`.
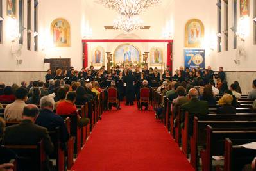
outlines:
[[78, 113], [74, 113], [71, 115], [60, 115], [64, 120], [69, 117], [71, 118], [71, 136], [76, 138], [74, 143], [74, 154], [79, 154], [81, 151], [81, 128], [78, 127], [78, 119], [80, 118]]

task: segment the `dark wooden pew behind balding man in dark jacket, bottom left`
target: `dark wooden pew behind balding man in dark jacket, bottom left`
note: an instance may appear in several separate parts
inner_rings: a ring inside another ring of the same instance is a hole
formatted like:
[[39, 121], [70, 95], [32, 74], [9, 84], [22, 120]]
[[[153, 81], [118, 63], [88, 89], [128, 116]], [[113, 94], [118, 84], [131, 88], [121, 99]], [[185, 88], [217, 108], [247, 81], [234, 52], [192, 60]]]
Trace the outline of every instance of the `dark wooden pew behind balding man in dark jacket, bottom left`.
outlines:
[[12, 149], [17, 154], [17, 170], [45, 170], [46, 154], [42, 141], [39, 142], [38, 145], [4, 146], [8, 149]]

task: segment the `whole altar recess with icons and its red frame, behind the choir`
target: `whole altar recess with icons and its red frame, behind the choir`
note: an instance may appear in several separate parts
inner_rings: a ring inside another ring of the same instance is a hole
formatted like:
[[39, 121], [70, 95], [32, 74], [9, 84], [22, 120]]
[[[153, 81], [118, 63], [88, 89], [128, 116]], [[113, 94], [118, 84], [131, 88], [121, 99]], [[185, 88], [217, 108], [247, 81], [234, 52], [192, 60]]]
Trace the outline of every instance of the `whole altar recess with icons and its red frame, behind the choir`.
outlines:
[[85, 39], [83, 67], [107, 68], [128, 65], [130, 68], [157, 67], [172, 69], [173, 40], [143, 39]]

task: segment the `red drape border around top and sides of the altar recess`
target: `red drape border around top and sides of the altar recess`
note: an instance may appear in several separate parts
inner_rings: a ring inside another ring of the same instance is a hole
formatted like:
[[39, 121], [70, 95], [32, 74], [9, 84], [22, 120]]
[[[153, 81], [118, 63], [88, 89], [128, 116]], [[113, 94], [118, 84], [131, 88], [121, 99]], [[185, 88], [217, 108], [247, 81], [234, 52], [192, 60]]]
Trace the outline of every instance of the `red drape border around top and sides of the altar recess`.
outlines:
[[88, 67], [88, 43], [167, 43], [166, 65], [173, 70], [173, 40], [158, 39], [83, 39], [83, 67]]

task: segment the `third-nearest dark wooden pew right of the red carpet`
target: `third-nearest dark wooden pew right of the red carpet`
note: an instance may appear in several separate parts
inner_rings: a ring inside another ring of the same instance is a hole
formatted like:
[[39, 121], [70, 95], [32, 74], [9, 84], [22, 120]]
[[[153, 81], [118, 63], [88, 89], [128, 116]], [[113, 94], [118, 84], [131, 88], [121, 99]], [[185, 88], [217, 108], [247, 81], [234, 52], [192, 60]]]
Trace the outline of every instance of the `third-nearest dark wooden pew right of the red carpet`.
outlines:
[[198, 146], [206, 143], [206, 127], [244, 127], [248, 122], [237, 121], [256, 121], [256, 114], [234, 114], [234, 115], [197, 115], [194, 116], [192, 135], [189, 134], [191, 147], [191, 165], [197, 168]]

